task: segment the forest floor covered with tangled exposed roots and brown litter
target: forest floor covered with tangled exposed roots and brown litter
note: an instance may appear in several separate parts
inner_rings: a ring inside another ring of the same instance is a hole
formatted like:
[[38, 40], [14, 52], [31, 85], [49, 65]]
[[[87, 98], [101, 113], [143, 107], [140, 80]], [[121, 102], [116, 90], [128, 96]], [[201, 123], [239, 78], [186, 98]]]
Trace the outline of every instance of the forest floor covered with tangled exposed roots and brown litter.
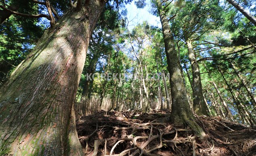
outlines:
[[169, 111], [104, 112], [82, 116], [77, 133], [86, 156], [256, 156], [256, 130], [197, 117], [206, 132], [199, 142], [189, 127], [168, 122]]

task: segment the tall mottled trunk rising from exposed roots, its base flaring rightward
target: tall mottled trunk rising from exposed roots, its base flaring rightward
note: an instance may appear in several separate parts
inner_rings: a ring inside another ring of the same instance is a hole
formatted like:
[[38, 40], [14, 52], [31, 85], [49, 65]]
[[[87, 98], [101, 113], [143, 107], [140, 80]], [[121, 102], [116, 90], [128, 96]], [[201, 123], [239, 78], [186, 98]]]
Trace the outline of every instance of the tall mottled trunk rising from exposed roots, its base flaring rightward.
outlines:
[[203, 129], [196, 123], [194, 115], [189, 108], [189, 102], [183, 83], [180, 61], [175, 51], [173, 36], [169, 26], [168, 19], [165, 15], [162, 3], [160, 0], [156, 0], [160, 21], [162, 24], [162, 33], [164, 35], [164, 47], [167, 56], [168, 70], [170, 73], [171, 81], [171, 97], [172, 97], [172, 111], [171, 120], [173, 123], [180, 124], [184, 123], [189, 125], [195, 135], [199, 139], [203, 139], [205, 133]]

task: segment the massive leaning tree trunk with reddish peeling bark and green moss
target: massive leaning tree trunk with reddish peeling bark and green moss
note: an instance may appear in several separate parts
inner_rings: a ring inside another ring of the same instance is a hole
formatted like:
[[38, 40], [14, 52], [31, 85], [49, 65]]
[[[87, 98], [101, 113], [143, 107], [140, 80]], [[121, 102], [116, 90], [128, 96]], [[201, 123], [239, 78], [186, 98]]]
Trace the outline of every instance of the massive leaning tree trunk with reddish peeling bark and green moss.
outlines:
[[2, 86], [0, 155], [83, 155], [75, 97], [104, 3], [91, 0], [65, 13]]

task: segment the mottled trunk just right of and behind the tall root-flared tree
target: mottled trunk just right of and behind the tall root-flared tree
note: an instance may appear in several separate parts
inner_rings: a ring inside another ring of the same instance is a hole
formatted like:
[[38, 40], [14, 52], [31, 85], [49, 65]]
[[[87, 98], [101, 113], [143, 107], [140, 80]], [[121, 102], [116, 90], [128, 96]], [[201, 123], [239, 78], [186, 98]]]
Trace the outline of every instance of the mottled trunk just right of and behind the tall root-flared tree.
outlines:
[[198, 115], [207, 115], [207, 104], [204, 102], [204, 94], [200, 76], [200, 68], [196, 60], [195, 51], [190, 40], [186, 41], [188, 57], [192, 68], [192, 90], [193, 90], [193, 108]]

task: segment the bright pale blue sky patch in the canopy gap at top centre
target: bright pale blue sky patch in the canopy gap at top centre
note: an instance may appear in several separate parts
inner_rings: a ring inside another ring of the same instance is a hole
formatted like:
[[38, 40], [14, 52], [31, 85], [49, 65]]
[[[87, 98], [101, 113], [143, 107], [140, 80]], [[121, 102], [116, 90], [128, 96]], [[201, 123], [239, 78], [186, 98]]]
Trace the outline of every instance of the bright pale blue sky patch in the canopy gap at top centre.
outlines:
[[146, 7], [143, 9], [138, 9], [134, 4], [134, 1], [131, 4], [127, 4], [127, 17], [129, 19], [129, 29], [131, 30], [135, 25], [142, 23], [143, 21], [148, 21], [150, 25], [161, 27], [160, 18], [152, 15], [150, 10], [150, 0], [146, 0]]

